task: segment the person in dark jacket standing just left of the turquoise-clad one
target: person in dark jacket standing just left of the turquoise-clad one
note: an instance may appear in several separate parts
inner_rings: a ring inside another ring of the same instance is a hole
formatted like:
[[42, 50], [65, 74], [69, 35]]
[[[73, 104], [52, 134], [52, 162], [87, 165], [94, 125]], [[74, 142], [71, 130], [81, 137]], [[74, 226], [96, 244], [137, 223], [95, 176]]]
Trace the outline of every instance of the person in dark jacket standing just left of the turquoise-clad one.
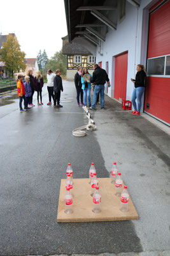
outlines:
[[[83, 104], [83, 90], [81, 89], [81, 74], [83, 72], [83, 68], [79, 67], [78, 72], [76, 72], [74, 76], [74, 84], [76, 86], [77, 91], [77, 106], [80, 107], [80, 98], [81, 98], [81, 106], [84, 106]], [[81, 97], [80, 97], [81, 96]]]

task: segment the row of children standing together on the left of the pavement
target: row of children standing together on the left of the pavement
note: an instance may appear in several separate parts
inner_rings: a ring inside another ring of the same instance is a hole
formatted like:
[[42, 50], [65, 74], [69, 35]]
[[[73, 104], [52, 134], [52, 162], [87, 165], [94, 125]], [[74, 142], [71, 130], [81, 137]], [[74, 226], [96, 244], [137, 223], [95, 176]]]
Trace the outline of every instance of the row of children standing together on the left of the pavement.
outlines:
[[[49, 102], [47, 103], [47, 105], [51, 105], [52, 104], [51, 100], [53, 99], [53, 102], [54, 102], [53, 107], [62, 108], [62, 106], [60, 105], [60, 91], [63, 92], [63, 86], [62, 86], [62, 78], [60, 77], [60, 70], [57, 69], [56, 75], [55, 75], [53, 74], [52, 70], [49, 69], [46, 77], [47, 77], [47, 89], [48, 89], [48, 97], [49, 97]], [[32, 70], [28, 70], [27, 76], [25, 77], [22, 74], [18, 74], [17, 90], [18, 90], [18, 96], [20, 97], [19, 107], [21, 112], [30, 110], [35, 106], [32, 103], [32, 98], [35, 91], [37, 92], [38, 106], [43, 105], [43, 102], [42, 102], [43, 85], [44, 85], [44, 81], [40, 71], [36, 73], [35, 77], [32, 76]], [[24, 100], [24, 108], [22, 108], [22, 100]], [[57, 105], [56, 105], [56, 102], [57, 102]]]

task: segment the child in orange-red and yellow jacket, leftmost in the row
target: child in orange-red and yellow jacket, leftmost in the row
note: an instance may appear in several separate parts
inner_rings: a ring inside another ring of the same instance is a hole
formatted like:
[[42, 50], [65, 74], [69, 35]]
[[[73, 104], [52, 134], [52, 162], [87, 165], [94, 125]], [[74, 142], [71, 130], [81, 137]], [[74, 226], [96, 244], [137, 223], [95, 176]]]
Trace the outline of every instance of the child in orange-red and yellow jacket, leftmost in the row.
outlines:
[[[28, 110], [26, 105], [26, 100], [25, 100], [25, 87], [22, 81], [23, 79], [24, 79], [24, 76], [22, 74], [19, 74], [18, 82], [17, 82], [17, 90], [18, 90], [18, 96], [20, 97], [20, 102], [19, 102], [20, 112], [24, 112], [25, 110]], [[24, 109], [22, 108], [23, 99], [24, 99]]]

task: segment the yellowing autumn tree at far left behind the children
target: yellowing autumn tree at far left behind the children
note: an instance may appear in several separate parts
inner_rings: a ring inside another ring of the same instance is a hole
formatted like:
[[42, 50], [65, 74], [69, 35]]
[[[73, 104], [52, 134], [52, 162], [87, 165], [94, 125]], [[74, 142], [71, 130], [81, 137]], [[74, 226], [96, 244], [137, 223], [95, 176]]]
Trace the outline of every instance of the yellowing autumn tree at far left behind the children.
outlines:
[[20, 50], [17, 38], [8, 35], [0, 51], [1, 60], [5, 63], [5, 70], [10, 73], [11, 77], [15, 72], [25, 71], [25, 52]]

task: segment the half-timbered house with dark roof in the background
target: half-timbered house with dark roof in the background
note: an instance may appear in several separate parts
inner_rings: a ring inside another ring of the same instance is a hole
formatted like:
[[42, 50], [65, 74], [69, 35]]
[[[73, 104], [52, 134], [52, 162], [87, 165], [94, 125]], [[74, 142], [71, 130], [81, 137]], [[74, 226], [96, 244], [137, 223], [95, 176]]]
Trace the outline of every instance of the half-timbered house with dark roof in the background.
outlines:
[[69, 43], [68, 36], [62, 37], [62, 54], [67, 55], [67, 79], [74, 79], [74, 74], [78, 67], [87, 67], [92, 74], [95, 63], [95, 56], [83, 45], [72, 42]]

